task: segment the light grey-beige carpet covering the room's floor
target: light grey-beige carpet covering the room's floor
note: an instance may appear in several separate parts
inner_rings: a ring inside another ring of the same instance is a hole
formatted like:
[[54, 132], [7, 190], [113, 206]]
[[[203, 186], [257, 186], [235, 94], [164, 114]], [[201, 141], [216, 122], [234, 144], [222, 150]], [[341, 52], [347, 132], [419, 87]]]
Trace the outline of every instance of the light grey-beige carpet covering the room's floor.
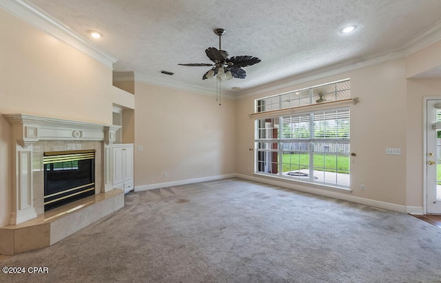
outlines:
[[441, 229], [240, 179], [125, 196], [125, 207], [3, 266], [1, 282], [441, 282]]

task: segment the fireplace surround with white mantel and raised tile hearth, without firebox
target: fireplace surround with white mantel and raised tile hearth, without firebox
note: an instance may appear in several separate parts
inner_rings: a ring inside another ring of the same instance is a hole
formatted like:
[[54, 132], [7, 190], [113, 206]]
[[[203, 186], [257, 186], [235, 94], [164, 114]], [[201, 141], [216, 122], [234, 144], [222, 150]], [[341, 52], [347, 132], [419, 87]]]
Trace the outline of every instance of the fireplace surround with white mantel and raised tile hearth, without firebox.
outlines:
[[[0, 228], [0, 254], [48, 247], [124, 206], [123, 191], [112, 188], [111, 147], [119, 126], [4, 116], [12, 127], [12, 167], [17, 168], [17, 178], [12, 182], [10, 224]], [[44, 212], [43, 153], [82, 149], [96, 151], [95, 195]]]

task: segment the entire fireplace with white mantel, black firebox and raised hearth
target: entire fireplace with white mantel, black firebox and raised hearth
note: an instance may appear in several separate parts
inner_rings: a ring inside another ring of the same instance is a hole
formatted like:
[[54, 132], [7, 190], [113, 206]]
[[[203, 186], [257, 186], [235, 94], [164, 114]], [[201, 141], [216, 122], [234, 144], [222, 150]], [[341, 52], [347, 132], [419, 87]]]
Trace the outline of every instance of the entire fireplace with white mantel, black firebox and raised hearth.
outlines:
[[112, 182], [112, 143], [121, 126], [3, 116], [11, 126], [14, 178], [10, 225], [0, 228], [0, 254], [49, 247], [124, 207], [123, 191]]

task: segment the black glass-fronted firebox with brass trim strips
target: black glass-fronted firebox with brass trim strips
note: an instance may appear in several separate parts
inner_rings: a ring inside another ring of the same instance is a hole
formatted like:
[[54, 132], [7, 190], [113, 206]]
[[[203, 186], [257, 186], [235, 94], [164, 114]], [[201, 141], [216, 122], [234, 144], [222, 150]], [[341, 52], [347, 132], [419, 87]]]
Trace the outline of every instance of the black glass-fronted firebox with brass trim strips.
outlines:
[[95, 193], [95, 151], [52, 151], [43, 154], [44, 211]]

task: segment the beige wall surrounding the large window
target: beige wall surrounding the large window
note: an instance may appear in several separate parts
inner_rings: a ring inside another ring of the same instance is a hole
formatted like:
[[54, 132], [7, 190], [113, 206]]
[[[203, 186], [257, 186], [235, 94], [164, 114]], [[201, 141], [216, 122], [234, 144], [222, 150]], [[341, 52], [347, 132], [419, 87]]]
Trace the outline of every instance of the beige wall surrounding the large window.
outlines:
[[[252, 176], [254, 170], [254, 153], [249, 151], [254, 147], [254, 121], [248, 114], [254, 111], [255, 98], [351, 78], [351, 96], [360, 98], [360, 103], [351, 106], [351, 151], [357, 154], [351, 158], [351, 196], [405, 205], [407, 92], [404, 70], [404, 60], [393, 61], [240, 99], [237, 105], [238, 173]], [[398, 147], [402, 154], [386, 155], [387, 147]], [[365, 185], [365, 191], [360, 191], [361, 184]]]

